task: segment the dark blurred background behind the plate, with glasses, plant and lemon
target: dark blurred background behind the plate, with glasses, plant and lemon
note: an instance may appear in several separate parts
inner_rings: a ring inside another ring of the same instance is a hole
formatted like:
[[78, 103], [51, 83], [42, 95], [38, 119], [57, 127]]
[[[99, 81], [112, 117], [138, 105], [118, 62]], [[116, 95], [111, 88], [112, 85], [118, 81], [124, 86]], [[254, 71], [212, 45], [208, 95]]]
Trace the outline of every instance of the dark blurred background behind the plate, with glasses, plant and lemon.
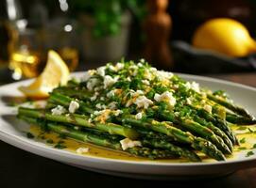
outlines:
[[56, 50], [70, 71], [145, 58], [166, 71], [256, 71], [255, 0], [2, 0], [0, 83], [43, 71]]

